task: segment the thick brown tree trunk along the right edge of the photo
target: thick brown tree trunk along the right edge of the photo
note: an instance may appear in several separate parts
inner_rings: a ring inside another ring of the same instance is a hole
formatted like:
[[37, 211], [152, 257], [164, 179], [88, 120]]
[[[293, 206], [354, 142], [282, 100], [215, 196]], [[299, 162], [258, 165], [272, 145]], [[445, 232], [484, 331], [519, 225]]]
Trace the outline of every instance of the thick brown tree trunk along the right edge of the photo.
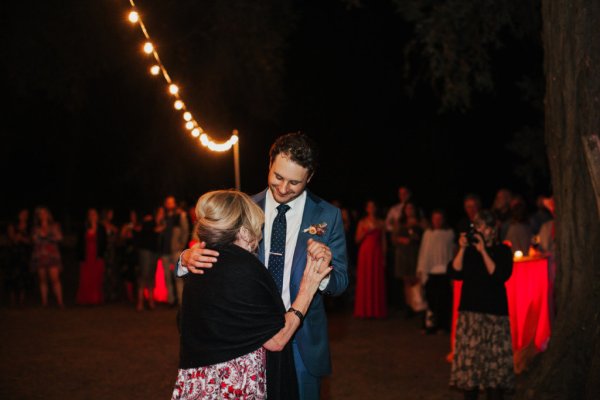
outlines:
[[543, 0], [556, 319], [520, 399], [600, 399], [600, 215], [584, 137], [600, 134], [600, 1]]

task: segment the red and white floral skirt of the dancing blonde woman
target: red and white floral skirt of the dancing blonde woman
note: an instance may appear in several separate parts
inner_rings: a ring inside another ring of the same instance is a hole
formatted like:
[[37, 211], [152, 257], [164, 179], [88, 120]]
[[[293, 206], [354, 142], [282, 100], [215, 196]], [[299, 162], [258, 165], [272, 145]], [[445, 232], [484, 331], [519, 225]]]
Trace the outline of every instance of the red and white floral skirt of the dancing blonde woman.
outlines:
[[264, 347], [233, 360], [180, 369], [171, 400], [259, 400], [267, 397]]

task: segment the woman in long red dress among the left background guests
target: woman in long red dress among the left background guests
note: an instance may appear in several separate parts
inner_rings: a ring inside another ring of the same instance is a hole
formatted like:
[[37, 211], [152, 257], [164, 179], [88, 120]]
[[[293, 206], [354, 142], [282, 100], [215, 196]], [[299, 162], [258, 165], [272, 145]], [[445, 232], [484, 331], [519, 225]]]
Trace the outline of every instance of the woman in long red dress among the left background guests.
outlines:
[[102, 304], [104, 302], [104, 259], [106, 231], [98, 222], [98, 211], [90, 208], [84, 232], [79, 242], [79, 288], [77, 304]]

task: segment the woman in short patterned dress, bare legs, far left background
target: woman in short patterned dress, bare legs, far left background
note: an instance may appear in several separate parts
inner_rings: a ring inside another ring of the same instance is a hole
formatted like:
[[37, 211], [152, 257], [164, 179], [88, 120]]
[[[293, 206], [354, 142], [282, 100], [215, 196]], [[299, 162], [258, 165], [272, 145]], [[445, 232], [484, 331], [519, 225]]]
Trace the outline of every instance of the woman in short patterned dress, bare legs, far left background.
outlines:
[[31, 268], [38, 274], [42, 306], [48, 306], [48, 280], [50, 280], [56, 303], [60, 308], [64, 308], [60, 281], [62, 259], [58, 248], [58, 244], [63, 239], [60, 225], [54, 222], [52, 214], [46, 207], [36, 208], [34, 218]]

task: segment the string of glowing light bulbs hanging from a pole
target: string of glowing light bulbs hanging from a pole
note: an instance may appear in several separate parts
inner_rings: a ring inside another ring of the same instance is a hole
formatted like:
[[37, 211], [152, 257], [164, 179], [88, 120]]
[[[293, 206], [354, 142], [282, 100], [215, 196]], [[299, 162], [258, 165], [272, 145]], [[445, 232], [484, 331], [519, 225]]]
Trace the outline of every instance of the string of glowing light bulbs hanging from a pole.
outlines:
[[131, 22], [132, 24], [137, 24], [140, 27], [142, 33], [144, 34], [144, 37], [146, 38], [146, 42], [144, 43], [142, 49], [144, 50], [144, 53], [154, 57], [154, 64], [150, 66], [150, 74], [152, 76], [162, 75], [162, 77], [165, 79], [169, 93], [175, 98], [173, 102], [173, 107], [175, 108], [175, 110], [180, 111], [182, 113], [183, 120], [185, 121], [185, 128], [188, 131], [190, 131], [193, 137], [199, 138], [200, 143], [204, 147], [207, 147], [212, 151], [224, 152], [231, 149], [231, 147], [234, 144], [236, 144], [239, 140], [237, 136], [237, 131], [234, 130], [233, 134], [227, 141], [217, 143], [208, 136], [204, 129], [202, 129], [200, 124], [198, 124], [198, 121], [188, 110], [188, 107], [186, 106], [185, 102], [182, 100], [181, 94], [179, 93], [179, 86], [173, 83], [173, 80], [167, 72], [165, 65], [160, 61], [160, 57], [158, 56], [156, 47], [152, 44], [152, 41], [150, 40], [150, 35], [148, 34], [146, 25], [144, 25], [142, 17], [137, 11], [137, 7], [134, 1], [129, 0], [129, 4], [131, 5], [131, 10], [129, 11], [128, 15], [129, 22]]

